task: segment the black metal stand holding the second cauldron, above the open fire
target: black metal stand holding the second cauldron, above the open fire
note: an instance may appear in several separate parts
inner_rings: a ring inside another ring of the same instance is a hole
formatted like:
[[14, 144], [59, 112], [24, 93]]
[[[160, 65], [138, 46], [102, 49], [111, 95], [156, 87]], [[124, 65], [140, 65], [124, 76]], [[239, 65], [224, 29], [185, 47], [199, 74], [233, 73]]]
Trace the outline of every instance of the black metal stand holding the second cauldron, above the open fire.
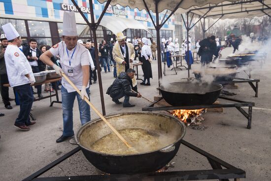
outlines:
[[[208, 108], [236, 108], [239, 110], [246, 118], [247, 118], [247, 129], [251, 129], [251, 121], [252, 121], [252, 107], [255, 106], [253, 102], [246, 102], [237, 99], [232, 99], [228, 97], [219, 96], [219, 99], [224, 99], [228, 101], [232, 101], [235, 103], [226, 103], [226, 104], [212, 104], [212, 105], [197, 105], [197, 106], [160, 106], [154, 107], [156, 103], [161, 101], [163, 97], [158, 99], [157, 101], [152, 102], [145, 108], [142, 108], [142, 111], [153, 111], [153, 110], [175, 110], [175, 109], [208, 109]], [[246, 112], [242, 107], [248, 107], [248, 112]]]

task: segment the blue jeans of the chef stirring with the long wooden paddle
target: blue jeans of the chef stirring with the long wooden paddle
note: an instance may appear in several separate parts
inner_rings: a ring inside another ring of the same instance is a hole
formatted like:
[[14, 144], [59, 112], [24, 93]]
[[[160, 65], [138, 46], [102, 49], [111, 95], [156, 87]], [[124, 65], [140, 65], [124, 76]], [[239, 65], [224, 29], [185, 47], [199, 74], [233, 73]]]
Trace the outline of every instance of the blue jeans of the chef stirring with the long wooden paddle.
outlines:
[[[89, 88], [87, 88], [87, 94], [89, 95]], [[78, 101], [80, 120], [82, 125], [90, 121], [90, 107], [85, 101], [81, 99], [81, 96], [76, 91], [68, 93], [64, 86], [61, 87], [61, 95], [63, 109], [63, 136], [72, 136], [74, 135], [72, 109], [75, 97]]]

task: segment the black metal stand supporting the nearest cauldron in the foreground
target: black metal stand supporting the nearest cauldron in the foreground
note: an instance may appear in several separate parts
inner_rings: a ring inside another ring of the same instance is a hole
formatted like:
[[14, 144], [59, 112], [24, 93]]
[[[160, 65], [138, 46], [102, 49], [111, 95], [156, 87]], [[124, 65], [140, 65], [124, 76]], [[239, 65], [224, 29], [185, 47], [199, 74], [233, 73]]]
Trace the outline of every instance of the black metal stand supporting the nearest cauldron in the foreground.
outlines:
[[[206, 157], [207, 161], [212, 167], [212, 170], [191, 170], [191, 171], [174, 171], [174, 172], [156, 172], [151, 174], [111, 174], [111, 175], [90, 175], [90, 176], [70, 176], [70, 177], [47, 177], [38, 178], [51, 168], [55, 167], [68, 157], [80, 151], [80, 147], [76, 147], [67, 154], [63, 155], [59, 159], [53, 161], [49, 165], [35, 172], [23, 181], [192, 181], [192, 180], [214, 180], [239, 181], [241, 178], [245, 178], [245, 171], [234, 167], [233, 165], [226, 163], [225, 161], [207, 153], [206, 151], [194, 146], [184, 140], [181, 144], [196, 151], [197, 153]], [[132, 164], [132, 163], [131, 163]], [[225, 169], [223, 169], [223, 168]]]

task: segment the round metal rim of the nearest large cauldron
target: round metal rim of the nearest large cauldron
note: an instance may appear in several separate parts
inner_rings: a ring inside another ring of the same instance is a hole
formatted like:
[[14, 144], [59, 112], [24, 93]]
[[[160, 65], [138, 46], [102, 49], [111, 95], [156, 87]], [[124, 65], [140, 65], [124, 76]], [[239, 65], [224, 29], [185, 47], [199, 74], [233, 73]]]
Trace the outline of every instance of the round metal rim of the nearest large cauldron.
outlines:
[[116, 114], [116, 113], [111, 113], [111, 114], [108, 114], [108, 115], [106, 115], [106, 116], [104, 116], [104, 117], [105, 117], [105, 118], [110, 118], [110, 117], [112, 117], [112, 116], [118, 116], [118, 115], [123, 115], [123, 114], [155, 114], [155, 115], [159, 114], [159, 115], [162, 115], [162, 116], [166, 116], [166, 117], [172, 118], [175, 122], [177, 122], [177, 124], [179, 124], [179, 125], [182, 127], [183, 132], [182, 132], [182, 135], [181, 135], [174, 143], [172, 143], [172, 144], [170, 144], [170, 145], [167, 145], [167, 146], [165, 146], [165, 147], [162, 147], [162, 148], [153, 150], [153, 151], [142, 152], [142, 153], [136, 153], [136, 154], [127, 154], [127, 155], [101, 153], [101, 152], [98, 152], [98, 151], [95, 151], [95, 150], [91, 150], [91, 149], [89, 149], [89, 148], [86, 148], [85, 146], [81, 145], [80, 142], [79, 142], [79, 140], [78, 140], [79, 134], [81, 134], [82, 130], [84, 130], [85, 127], [87, 127], [87, 126], [90, 125], [90, 124], [94, 124], [95, 122], [98, 122], [98, 121], [102, 120], [102, 118], [96, 118], [96, 119], [92, 120], [91, 122], [87, 122], [86, 124], [84, 124], [83, 126], [81, 126], [81, 127], [79, 128], [78, 132], [77, 132], [76, 135], [75, 135], [75, 141], [76, 141], [77, 145], [79, 145], [80, 147], [82, 147], [82, 148], [84, 148], [84, 149], [86, 149], [86, 150], [88, 150], [88, 151], [94, 152], [94, 153], [99, 154], [99, 155], [121, 156], [121, 157], [125, 157], [125, 156], [134, 156], [134, 155], [138, 155], [138, 154], [140, 154], [140, 155], [142, 155], [142, 154], [147, 154], [147, 153], [151, 153], [151, 152], [155, 152], [155, 151], [161, 151], [161, 150], [163, 150], [163, 149], [167, 149], [167, 148], [173, 147], [174, 145], [176, 145], [176, 143], [180, 142], [180, 141], [183, 139], [183, 137], [184, 137], [184, 135], [185, 135], [185, 133], [186, 133], [186, 126], [185, 126], [185, 124], [184, 124], [182, 121], [180, 121], [178, 118], [176, 118], [176, 117], [173, 116], [173, 115], [165, 114], [165, 113], [154, 113], [154, 112], [150, 112], [150, 111], [144, 111], [144, 112], [135, 111], [135, 112], [121, 112], [121, 113], [117, 113], [117, 114]]

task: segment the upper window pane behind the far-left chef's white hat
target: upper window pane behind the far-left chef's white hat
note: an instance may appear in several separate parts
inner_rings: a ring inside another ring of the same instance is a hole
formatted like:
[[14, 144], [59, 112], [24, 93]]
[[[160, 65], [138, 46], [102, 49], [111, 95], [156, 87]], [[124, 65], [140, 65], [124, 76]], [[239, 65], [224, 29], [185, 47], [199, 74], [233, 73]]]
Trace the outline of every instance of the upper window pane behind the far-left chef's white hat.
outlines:
[[2, 25], [11, 23], [14, 28], [17, 30], [20, 36], [27, 37], [26, 33], [26, 25], [24, 20], [14, 20], [14, 19], [3, 19], [0, 18], [0, 32], [1, 34], [4, 33], [2, 29]]

